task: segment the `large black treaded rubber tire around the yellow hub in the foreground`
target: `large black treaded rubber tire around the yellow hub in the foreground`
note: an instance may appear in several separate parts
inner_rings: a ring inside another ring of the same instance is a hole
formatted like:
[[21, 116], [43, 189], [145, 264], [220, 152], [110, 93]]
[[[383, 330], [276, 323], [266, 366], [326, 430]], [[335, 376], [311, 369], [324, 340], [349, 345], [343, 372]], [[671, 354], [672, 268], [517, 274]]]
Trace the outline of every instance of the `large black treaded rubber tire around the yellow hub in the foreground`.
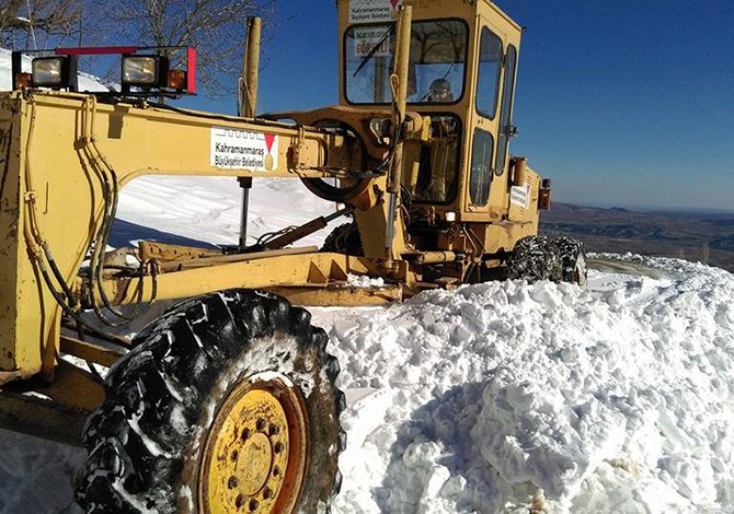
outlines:
[[329, 338], [310, 318], [280, 296], [239, 289], [182, 302], [146, 327], [110, 371], [106, 399], [87, 422], [89, 457], [76, 484], [82, 510], [198, 512], [194, 482], [213, 412], [233, 385], [265, 371], [287, 375], [308, 411], [297, 512], [330, 505], [341, 486], [346, 404], [334, 385], [340, 367], [325, 351]]

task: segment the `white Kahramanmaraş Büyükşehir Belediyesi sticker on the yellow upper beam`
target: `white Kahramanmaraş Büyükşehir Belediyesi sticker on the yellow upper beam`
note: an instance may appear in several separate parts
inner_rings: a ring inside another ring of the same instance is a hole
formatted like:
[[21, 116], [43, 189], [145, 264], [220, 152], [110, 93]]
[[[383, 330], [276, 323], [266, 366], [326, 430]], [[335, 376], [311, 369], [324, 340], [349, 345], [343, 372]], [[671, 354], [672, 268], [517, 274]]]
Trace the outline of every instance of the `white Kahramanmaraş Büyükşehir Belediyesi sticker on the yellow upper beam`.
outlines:
[[265, 172], [278, 167], [278, 137], [211, 127], [211, 165], [225, 170]]

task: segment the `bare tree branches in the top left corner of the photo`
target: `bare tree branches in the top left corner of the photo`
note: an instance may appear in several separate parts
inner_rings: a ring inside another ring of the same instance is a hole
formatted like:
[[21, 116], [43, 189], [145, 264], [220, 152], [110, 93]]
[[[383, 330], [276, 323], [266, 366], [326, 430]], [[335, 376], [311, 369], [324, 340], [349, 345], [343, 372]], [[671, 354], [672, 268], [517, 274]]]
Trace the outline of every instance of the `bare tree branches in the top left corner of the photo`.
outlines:
[[0, 1], [0, 45], [44, 48], [79, 34], [81, 0]]

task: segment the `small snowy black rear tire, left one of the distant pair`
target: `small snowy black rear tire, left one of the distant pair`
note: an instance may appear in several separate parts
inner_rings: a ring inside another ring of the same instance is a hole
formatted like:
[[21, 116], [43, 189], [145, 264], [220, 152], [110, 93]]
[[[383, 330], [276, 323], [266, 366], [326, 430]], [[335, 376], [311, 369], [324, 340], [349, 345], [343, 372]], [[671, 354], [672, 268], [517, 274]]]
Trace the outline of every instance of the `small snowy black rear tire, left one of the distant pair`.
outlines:
[[517, 242], [505, 262], [509, 280], [561, 281], [561, 259], [555, 246], [542, 235], [529, 235]]

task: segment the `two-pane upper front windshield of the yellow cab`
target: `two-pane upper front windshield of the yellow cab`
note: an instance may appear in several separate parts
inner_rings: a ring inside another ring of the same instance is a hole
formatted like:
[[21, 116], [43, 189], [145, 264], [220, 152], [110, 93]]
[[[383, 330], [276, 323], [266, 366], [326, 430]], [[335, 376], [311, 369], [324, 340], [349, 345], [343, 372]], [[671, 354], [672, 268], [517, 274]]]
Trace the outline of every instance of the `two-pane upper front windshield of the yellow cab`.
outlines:
[[[353, 104], [390, 102], [394, 24], [358, 25], [345, 37], [346, 97]], [[380, 44], [381, 42], [381, 44]], [[376, 45], [379, 47], [375, 50]], [[408, 101], [452, 104], [463, 95], [467, 25], [461, 21], [415, 22], [411, 33]]]

